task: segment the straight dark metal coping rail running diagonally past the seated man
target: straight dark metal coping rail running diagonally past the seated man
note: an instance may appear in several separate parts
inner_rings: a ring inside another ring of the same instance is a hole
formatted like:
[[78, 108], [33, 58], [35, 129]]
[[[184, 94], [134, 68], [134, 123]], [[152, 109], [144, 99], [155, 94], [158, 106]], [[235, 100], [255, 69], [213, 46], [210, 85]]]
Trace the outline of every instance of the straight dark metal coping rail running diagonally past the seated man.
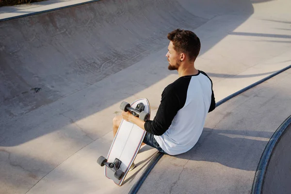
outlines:
[[[275, 72], [275, 73], [269, 75], [268, 77], [266, 77], [266, 78], [264, 78], [264, 79], [261, 79], [261, 80], [255, 82], [255, 83], [253, 83], [253, 84], [251, 84], [251, 85], [249, 85], [249, 86], [247, 86], [247, 87], [245, 87], [245, 88], [239, 90], [238, 92], [235, 92], [235, 93], [229, 95], [228, 97], [225, 97], [224, 99], [222, 99], [222, 100], [220, 100], [219, 102], [216, 103], [216, 107], [220, 106], [221, 104], [225, 103], [226, 101], [230, 100], [231, 98], [236, 97], [236, 96], [242, 94], [243, 92], [245, 92], [245, 91], [247, 91], [247, 90], [249, 90], [249, 89], [251, 89], [251, 88], [253, 88], [253, 87], [257, 86], [257, 85], [259, 85], [260, 83], [262, 83], [262, 82], [264, 82], [264, 81], [267, 81], [267, 80], [273, 78], [274, 76], [276, 76], [276, 75], [278, 75], [278, 74], [280, 74], [280, 73], [282, 73], [282, 72], [284, 72], [284, 71], [286, 71], [286, 70], [288, 70], [288, 69], [290, 69], [290, 68], [291, 68], [291, 65], [289, 65], [289, 66], [287, 66], [287, 67], [285, 67], [285, 68], [283, 68], [283, 69], [281, 69], [281, 70], [279, 70], [279, 71], [277, 71], [277, 72]], [[291, 119], [290, 119], [290, 122], [291, 122]], [[283, 125], [283, 124], [282, 124], [282, 125]], [[276, 133], [276, 132], [275, 132], [275, 133]], [[274, 134], [274, 135], [275, 135], [275, 134]], [[274, 136], [274, 135], [273, 135], [273, 136]], [[278, 133], [277, 135], [279, 135], [279, 133]], [[273, 138], [273, 136], [272, 136], [272, 138]], [[272, 138], [271, 138], [271, 139], [272, 139]], [[275, 136], [274, 136], [274, 138], [275, 138]], [[271, 140], [270, 140], [270, 141], [271, 141]], [[275, 139], [273, 139], [273, 141], [275, 141]], [[269, 142], [269, 143], [270, 143], [270, 142]], [[270, 143], [270, 144], [271, 144], [271, 143]], [[268, 144], [268, 145], [269, 145], [269, 144]], [[267, 146], [268, 146], [268, 145], [267, 145]], [[267, 148], [267, 147], [266, 147], [266, 148]], [[265, 151], [266, 151], [266, 149], [265, 149]], [[268, 151], [266, 151], [266, 152], [268, 153]], [[142, 175], [140, 176], [140, 178], [137, 180], [137, 182], [136, 182], [136, 183], [132, 186], [132, 188], [130, 189], [129, 194], [136, 194], [136, 193], [138, 192], [138, 190], [141, 188], [142, 184], [143, 184], [144, 181], [146, 180], [146, 177], [148, 176], [148, 174], [150, 173], [150, 171], [151, 171], [151, 170], [154, 168], [154, 166], [159, 162], [159, 160], [162, 158], [163, 155], [164, 155], [164, 154], [163, 154], [162, 152], [158, 152], [158, 153], [153, 157], [153, 159], [150, 161], [150, 163], [148, 164], [148, 166], [146, 167], [146, 169], [143, 171], [143, 173], [142, 173]], [[266, 155], [266, 156], [268, 156], [268, 155]], [[260, 162], [260, 163], [259, 163], [259, 166], [263, 167], [265, 164], [266, 164], [266, 163]], [[258, 167], [258, 168], [259, 168], [259, 167]], [[258, 170], [257, 170], [257, 172], [258, 172]], [[261, 176], [261, 173], [262, 173], [262, 172], [263, 172], [263, 171], [260, 170], [260, 171], [258, 172], [258, 175], [257, 175], [257, 173], [256, 173], [256, 177], [255, 177], [255, 178], [261, 178], [260, 176]], [[252, 193], [252, 194], [259, 194], [259, 193]]]

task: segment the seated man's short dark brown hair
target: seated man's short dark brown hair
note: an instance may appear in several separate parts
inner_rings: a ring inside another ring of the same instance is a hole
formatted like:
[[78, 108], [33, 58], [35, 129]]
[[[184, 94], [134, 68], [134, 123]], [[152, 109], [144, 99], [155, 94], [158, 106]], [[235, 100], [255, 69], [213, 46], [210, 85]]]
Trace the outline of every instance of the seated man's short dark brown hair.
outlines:
[[195, 60], [200, 52], [200, 39], [194, 32], [176, 29], [168, 33], [168, 39], [173, 42], [177, 52], [188, 54], [190, 61]]

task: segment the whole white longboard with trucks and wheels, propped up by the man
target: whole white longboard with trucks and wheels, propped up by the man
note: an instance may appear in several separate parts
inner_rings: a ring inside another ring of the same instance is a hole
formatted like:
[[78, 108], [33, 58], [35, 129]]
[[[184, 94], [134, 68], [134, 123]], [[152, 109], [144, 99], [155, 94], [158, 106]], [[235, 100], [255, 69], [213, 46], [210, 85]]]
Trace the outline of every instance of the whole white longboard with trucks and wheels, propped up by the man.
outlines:
[[[144, 121], [150, 118], [150, 105], [146, 98], [135, 100], [131, 105], [127, 102], [122, 102], [120, 109], [129, 111]], [[105, 176], [112, 179], [115, 184], [122, 185], [143, 143], [145, 135], [145, 130], [122, 119], [107, 158], [103, 156], [98, 158], [97, 163], [101, 166], [105, 165]]]

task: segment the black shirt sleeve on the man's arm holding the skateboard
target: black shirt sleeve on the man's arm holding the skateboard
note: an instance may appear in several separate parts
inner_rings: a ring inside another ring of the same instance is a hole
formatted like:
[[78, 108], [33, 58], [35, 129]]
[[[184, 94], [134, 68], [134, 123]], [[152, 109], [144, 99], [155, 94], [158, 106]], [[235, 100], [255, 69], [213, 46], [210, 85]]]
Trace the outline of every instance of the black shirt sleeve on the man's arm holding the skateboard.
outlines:
[[[188, 86], [187, 86], [188, 88]], [[184, 90], [187, 93], [187, 89]], [[185, 98], [185, 99], [181, 99]], [[172, 124], [177, 112], [184, 106], [186, 95], [180, 93], [180, 89], [169, 85], [162, 92], [161, 104], [152, 121], [146, 121], [145, 129], [154, 135], [162, 135]]]

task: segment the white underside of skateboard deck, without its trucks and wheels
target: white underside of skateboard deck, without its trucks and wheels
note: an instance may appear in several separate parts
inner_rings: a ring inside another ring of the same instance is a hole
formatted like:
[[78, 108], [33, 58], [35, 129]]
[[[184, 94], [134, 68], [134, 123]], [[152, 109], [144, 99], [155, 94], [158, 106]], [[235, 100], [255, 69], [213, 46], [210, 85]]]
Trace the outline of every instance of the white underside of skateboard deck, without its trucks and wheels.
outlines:
[[[150, 114], [150, 106], [146, 98], [135, 100], [130, 106], [135, 109], [140, 102], [145, 105], [144, 111]], [[113, 162], [115, 158], [120, 160], [121, 164], [119, 168], [124, 172], [123, 178], [118, 180], [114, 177], [114, 172], [105, 166], [105, 176], [112, 179], [115, 184], [119, 186], [122, 185], [127, 173], [129, 172], [129, 168], [143, 143], [145, 135], [145, 130], [122, 119], [109, 150], [107, 162]]]

